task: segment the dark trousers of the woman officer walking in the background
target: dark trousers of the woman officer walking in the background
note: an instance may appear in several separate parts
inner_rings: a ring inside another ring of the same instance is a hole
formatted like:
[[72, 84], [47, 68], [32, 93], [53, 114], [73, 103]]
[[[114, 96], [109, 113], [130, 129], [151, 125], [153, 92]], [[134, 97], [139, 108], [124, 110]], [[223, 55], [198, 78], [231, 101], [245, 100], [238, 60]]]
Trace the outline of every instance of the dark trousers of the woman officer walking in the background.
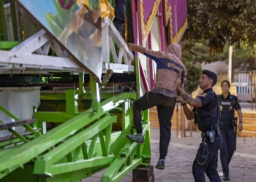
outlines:
[[220, 149], [220, 161], [223, 173], [228, 174], [230, 160], [233, 157], [236, 146], [236, 136], [233, 127], [222, 127], [223, 146]]

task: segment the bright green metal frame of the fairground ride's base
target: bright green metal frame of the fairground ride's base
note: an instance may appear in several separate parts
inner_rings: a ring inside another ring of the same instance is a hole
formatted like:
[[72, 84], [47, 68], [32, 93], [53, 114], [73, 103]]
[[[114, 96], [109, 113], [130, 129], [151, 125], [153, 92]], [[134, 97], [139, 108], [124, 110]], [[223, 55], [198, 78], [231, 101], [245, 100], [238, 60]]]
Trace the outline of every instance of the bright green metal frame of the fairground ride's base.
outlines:
[[[101, 181], [119, 181], [138, 165], [150, 164], [148, 111], [143, 113], [145, 143], [133, 143], [126, 137], [135, 133], [132, 103], [137, 95], [132, 92], [99, 94], [99, 84], [92, 76], [91, 92], [85, 91], [83, 74], [79, 78], [78, 90], [66, 90], [63, 95], [41, 95], [41, 100], [51, 103], [65, 100], [66, 111], [34, 111], [42, 135], [3, 150], [0, 154], [1, 181], [19, 178], [23, 181], [24, 174], [30, 181], [80, 181], [105, 168], [108, 170]], [[81, 100], [91, 100], [91, 106], [83, 112], [78, 111]], [[122, 126], [116, 131], [113, 130], [117, 122], [115, 111], [121, 113]], [[43, 122], [55, 122], [59, 126], [44, 133]]]

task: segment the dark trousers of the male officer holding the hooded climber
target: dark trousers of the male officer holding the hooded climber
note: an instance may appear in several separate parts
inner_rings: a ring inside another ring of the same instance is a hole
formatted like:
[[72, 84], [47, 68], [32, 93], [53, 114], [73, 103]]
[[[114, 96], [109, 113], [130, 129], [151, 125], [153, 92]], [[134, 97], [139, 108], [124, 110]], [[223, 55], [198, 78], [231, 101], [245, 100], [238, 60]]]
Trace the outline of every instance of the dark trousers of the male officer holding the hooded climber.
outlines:
[[195, 158], [192, 166], [192, 172], [194, 175], [195, 182], [205, 182], [205, 173], [211, 182], [221, 182], [218, 168], [218, 151], [222, 147], [222, 135], [219, 135], [214, 143], [210, 143], [209, 139], [206, 139], [208, 144], [208, 159], [204, 165], [198, 165], [197, 159]]

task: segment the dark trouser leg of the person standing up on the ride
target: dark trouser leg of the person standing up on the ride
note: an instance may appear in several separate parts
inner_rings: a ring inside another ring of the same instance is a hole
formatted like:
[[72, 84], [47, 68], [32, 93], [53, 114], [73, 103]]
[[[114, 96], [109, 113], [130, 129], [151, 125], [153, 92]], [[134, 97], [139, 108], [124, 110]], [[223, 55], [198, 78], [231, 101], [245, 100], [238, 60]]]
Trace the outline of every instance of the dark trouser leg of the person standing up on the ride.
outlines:
[[115, 26], [116, 29], [121, 32], [124, 29], [125, 11], [126, 11], [126, 0], [115, 0]]

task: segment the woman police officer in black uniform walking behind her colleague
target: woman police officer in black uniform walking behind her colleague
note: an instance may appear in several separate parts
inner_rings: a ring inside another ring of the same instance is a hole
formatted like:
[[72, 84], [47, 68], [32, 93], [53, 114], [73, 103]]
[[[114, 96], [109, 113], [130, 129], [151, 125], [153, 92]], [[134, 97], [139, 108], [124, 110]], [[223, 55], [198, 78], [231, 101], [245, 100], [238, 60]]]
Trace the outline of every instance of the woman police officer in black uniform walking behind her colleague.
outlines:
[[220, 161], [222, 162], [223, 180], [229, 181], [229, 168], [230, 160], [236, 148], [236, 134], [234, 127], [236, 120], [234, 119], [235, 109], [238, 112], [239, 124], [238, 131], [243, 130], [243, 119], [238, 98], [235, 95], [230, 95], [230, 82], [227, 80], [222, 81], [222, 95], [219, 97], [219, 105], [221, 111], [220, 124], [222, 125], [222, 138], [223, 146], [220, 149]]

